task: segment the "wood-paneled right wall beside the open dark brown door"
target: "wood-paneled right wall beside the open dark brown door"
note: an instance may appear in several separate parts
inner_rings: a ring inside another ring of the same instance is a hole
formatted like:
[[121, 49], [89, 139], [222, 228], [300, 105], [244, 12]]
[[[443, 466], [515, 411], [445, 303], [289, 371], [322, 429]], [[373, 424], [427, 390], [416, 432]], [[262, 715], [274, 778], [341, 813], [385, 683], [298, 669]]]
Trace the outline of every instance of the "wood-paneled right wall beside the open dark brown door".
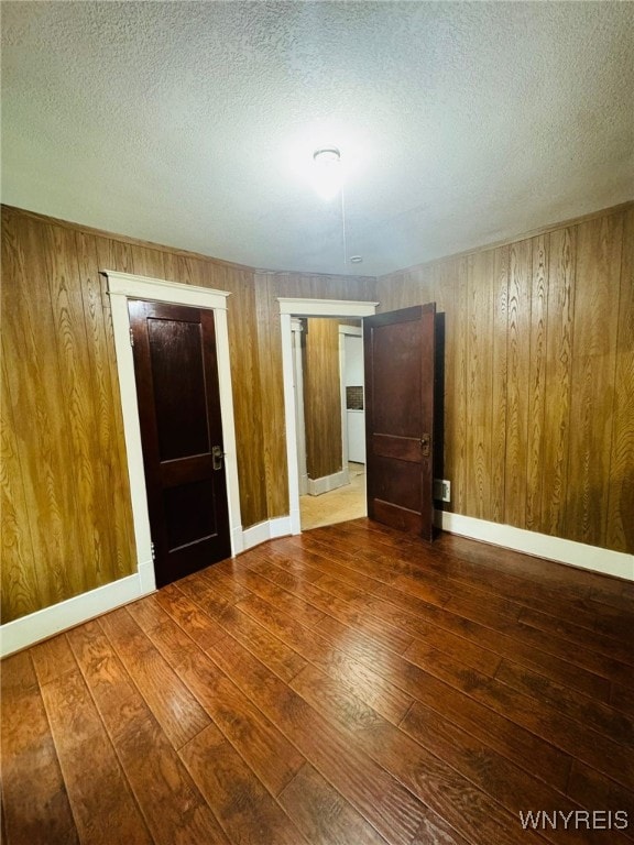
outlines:
[[446, 317], [451, 511], [634, 551], [634, 208], [378, 279]]

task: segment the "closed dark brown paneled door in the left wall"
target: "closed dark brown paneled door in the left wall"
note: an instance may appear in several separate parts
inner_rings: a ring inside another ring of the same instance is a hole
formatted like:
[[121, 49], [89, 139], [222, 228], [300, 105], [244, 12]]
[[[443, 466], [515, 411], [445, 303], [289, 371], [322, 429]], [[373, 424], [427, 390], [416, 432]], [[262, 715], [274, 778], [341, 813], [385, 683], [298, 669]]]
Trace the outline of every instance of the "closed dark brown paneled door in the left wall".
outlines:
[[214, 311], [130, 300], [156, 585], [231, 555]]

